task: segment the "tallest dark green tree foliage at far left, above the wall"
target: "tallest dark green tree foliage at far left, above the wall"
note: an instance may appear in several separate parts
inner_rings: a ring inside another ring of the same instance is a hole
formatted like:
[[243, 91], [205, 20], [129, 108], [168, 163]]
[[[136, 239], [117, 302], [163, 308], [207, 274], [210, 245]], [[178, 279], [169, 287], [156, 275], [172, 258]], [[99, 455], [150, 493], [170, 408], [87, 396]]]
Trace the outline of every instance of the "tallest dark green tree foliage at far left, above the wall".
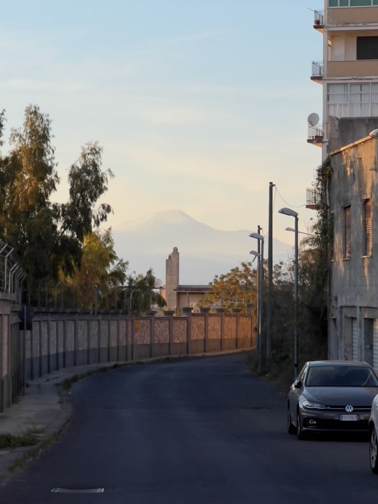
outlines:
[[[0, 139], [4, 120], [3, 111]], [[97, 203], [112, 176], [110, 170], [101, 171], [102, 148], [97, 143], [82, 147], [69, 170], [68, 202], [51, 201], [59, 184], [52, 138], [48, 114], [28, 105], [23, 127], [11, 130], [10, 152], [0, 156], [0, 239], [14, 248], [35, 281], [73, 275], [80, 267], [85, 236], [111, 212], [109, 205]]]

